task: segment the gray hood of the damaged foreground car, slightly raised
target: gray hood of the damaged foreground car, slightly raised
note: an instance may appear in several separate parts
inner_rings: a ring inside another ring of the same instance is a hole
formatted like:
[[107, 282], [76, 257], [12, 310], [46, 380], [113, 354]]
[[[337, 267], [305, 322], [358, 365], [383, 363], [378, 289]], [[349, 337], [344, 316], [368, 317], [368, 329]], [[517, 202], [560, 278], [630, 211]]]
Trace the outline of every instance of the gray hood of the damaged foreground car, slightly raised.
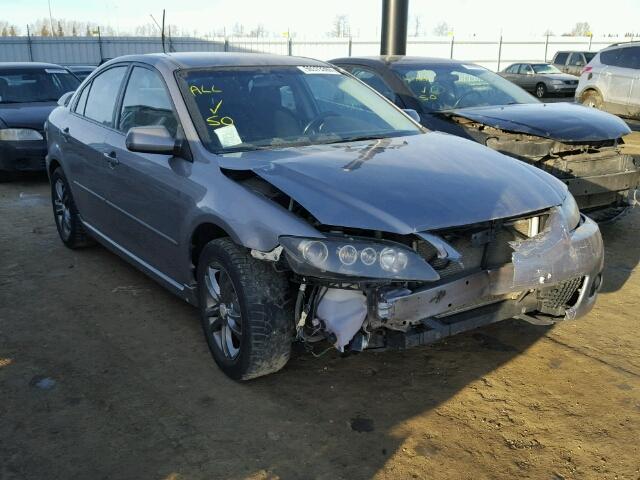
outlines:
[[399, 234], [514, 217], [560, 204], [562, 182], [453, 135], [227, 154], [325, 225]]

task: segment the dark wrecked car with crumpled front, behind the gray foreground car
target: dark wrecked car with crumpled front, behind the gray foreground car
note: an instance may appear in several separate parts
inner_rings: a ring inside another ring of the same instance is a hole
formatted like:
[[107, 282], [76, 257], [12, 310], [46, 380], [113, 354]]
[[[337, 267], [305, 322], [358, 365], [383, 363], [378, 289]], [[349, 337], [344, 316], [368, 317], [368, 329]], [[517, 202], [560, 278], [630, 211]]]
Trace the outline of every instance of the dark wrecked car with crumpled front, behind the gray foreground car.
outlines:
[[568, 103], [542, 103], [479, 65], [440, 58], [377, 56], [332, 60], [422, 125], [474, 140], [562, 180], [597, 221], [636, 203], [640, 162], [621, 146], [619, 118]]

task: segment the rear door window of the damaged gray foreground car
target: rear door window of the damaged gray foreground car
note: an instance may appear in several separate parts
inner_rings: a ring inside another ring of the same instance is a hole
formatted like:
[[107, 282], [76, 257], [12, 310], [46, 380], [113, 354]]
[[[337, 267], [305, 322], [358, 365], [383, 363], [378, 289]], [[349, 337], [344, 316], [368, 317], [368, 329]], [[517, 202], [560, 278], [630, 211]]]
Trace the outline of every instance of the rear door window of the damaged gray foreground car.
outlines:
[[114, 67], [99, 74], [91, 82], [84, 115], [107, 127], [113, 127], [113, 113], [126, 66]]

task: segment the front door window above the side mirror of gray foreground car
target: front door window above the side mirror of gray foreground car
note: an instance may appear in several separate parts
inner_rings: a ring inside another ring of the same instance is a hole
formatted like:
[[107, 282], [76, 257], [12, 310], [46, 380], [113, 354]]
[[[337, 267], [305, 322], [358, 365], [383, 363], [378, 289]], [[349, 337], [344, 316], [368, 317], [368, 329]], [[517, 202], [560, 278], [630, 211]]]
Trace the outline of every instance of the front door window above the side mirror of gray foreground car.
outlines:
[[134, 67], [122, 101], [118, 130], [133, 127], [164, 126], [175, 137], [178, 121], [171, 99], [159, 74]]

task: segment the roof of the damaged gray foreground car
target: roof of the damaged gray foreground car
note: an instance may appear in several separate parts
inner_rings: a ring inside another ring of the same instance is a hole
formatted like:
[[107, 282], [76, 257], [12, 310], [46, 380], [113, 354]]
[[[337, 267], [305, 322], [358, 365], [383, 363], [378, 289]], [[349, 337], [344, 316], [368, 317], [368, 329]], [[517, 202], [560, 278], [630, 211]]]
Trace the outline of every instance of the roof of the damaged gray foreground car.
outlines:
[[144, 55], [125, 55], [110, 60], [109, 64], [119, 62], [142, 62], [165, 67], [203, 68], [236, 66], [327, 66], [326, 62], [306, 57], [273, 55], [270, 53], [244, 52], [177, 52], [148, 53]]

